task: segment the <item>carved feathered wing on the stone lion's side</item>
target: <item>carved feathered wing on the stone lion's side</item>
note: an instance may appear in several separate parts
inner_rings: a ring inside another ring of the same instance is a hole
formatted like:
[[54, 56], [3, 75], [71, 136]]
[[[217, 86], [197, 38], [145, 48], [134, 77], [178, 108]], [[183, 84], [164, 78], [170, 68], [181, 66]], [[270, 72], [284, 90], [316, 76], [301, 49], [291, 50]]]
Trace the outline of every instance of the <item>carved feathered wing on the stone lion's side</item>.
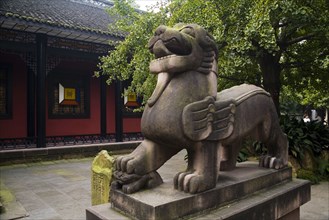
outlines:
[[233, 132], [234, 113], [234, 100], [216, 101], [208, 96], [184, 108], [184, 133], [193, 141], [226, 138]]

